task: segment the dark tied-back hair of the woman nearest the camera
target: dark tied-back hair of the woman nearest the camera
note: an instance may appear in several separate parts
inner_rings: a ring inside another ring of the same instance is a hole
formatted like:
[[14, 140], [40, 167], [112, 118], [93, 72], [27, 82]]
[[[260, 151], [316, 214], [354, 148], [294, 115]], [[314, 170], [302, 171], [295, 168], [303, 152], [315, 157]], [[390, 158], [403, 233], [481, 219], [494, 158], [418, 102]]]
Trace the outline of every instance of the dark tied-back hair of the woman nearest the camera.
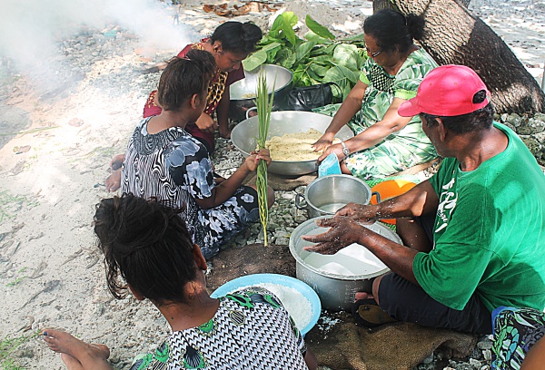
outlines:
[[124, 194], [101, 200], [94, 233], [104, 252], [108, 289], [127, 295], [127, 284], [154, 303], [183, 302], [183, 287], [196, 277], [193, 241], [178, 213], [155, 200]]

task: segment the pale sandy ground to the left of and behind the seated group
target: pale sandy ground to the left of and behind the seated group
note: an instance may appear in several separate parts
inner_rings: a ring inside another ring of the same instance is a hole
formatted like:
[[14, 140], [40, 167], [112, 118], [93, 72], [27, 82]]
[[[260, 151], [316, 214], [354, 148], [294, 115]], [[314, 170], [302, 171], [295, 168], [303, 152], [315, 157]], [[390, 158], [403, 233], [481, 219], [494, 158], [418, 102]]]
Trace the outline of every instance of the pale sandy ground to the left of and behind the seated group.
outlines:
[[[472, 3], [471, 9], [540, 80], [543, 2]], [[218, 22], [198, 4], [183, 5], [180, 14], [183, 27], [197, 36], [209, 34]], [[364, 17], [372, 13], [369, 1], [286, 5], [300, 17], [312, 14], [338, 34], [361, 33]], [[172, 22], [175, 9], [163, 11], [165, 22]], [[268, 15], [237, 18], [246, 19], [266, 24]], [[76, 83], [55, 90], [40, 89], [5, 59], [0, 64], [0, 340], [30, 337], [50, 326], [64, 328], [109, 346], [113, 364], [124, 368], [134, 354], [160, 344], [168, 327], [151, 304], [109, 295], [91, 222], [94, 204], [111, 195], [104, 189], [108, 163], [124, 151], [154, 83], [155, 77], [142, 76], [138, 69], [177, 50], [144, 53], [149, 45], [138, 36], [118, 34], [123, 44], [115, 47], [121, 53], [94, 57]], [[8, 356], [25, 368], [63, 368], [39, 337]]]

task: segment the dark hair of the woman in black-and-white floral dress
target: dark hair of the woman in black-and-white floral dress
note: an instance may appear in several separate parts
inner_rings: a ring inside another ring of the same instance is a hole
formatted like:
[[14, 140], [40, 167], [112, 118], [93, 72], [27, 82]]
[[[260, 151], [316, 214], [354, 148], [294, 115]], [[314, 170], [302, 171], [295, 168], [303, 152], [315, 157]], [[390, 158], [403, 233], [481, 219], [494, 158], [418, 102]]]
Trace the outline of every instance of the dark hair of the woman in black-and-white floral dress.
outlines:
[[193, 94], [199, 96], [206, 88], [215, 71], [213, 55], [192, 49], [185, 57], [174, 57], [161, 74], [157, 88], [157, 102], [164, 111], [177, 111]]

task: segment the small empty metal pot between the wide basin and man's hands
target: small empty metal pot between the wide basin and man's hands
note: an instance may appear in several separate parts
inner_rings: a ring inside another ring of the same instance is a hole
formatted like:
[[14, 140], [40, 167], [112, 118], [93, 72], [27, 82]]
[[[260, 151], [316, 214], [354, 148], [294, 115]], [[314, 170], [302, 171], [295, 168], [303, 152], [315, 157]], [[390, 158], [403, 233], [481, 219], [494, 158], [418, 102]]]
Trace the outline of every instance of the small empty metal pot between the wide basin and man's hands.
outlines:
[[348, 203], [368, 204], [372, 197], [369, 185], [352, 175], [328, 175], [312, 180], [304, 194], [295, 195], [295, 206], [306, 209], [309, 218], [334, 215]]

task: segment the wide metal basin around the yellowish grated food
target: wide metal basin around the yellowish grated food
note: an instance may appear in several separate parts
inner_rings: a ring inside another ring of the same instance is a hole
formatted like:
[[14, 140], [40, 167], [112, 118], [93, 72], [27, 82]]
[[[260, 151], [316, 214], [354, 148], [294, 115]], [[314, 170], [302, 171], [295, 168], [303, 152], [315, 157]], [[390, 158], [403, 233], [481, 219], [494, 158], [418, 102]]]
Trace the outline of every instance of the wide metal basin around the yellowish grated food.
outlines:
[[[315, 129], [324, 132], [332, 122], [332, 117], [325, 114], [301, 111], [280, 111], [271, 113], [271, 123], [269, 125], [269, 134], [272, 136], [282, 136], [285, 133], [306, 132], [309, 129]], [[258, 117], [250, 117], [234, 126], [231, 131], [231, 141], [234, 146], [243, 153], [244, 157], [250, 155], [257, 145], [257, 135], [259, 132]], [[337, 132], [336, 137], [342, 141], [354, 136], [348, 126], [343, 126]], [[319, 155], [316, 154], [316, 158]], [[300, 176], [312, 173], [318, 170], [316, 161], [272, 161], [267, 169], [269, 172], [283, 176]]]

